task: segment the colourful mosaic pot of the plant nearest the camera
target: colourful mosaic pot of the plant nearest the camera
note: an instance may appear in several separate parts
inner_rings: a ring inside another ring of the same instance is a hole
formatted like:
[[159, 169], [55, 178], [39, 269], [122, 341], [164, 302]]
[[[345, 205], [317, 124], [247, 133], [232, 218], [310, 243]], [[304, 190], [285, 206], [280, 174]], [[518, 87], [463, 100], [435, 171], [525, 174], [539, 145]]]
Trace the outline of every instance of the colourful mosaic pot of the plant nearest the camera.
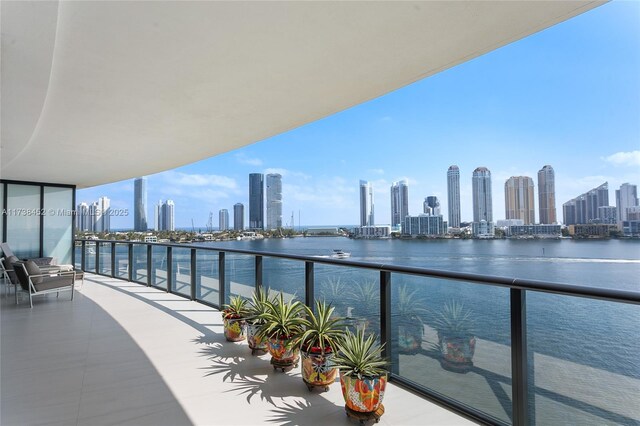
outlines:
[[361, 380], [340, 372], [340, 386], [347, 408], [360, 413], [372, 413], [382, 404], [384, 390], [387, 387], [387, 375]]

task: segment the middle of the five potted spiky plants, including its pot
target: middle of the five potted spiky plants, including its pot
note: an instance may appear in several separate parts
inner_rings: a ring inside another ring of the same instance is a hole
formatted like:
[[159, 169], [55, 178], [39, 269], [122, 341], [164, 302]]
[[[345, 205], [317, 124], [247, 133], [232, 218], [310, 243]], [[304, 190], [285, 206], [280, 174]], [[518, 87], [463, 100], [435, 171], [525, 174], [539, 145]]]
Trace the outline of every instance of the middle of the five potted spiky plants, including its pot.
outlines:
[[264, 302], [265, 311], [258, 316], [264, 324], [258, 330], [258, 337], [267, 339], [273, 369], [297, 366], [300, 350], [293, 343], [296, 336], [304, 332], [302, 318], [303, 305], [292, 298], [284, 301], [282, 292]]

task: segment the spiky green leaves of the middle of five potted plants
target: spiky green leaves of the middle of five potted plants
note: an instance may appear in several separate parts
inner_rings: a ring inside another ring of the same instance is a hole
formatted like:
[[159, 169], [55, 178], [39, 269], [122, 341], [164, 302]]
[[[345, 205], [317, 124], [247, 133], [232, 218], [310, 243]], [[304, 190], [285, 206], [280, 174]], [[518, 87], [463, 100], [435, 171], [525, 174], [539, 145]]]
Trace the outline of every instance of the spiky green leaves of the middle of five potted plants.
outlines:
[[264, 324], [258, 330], [260, 338], [289, 338], [301, 334], [304, 331], [303, 306], [300, 301], [292, 298], [285, 302], [282, 292], [264, 302], [264, 312], [258, 318], [264, 320]]

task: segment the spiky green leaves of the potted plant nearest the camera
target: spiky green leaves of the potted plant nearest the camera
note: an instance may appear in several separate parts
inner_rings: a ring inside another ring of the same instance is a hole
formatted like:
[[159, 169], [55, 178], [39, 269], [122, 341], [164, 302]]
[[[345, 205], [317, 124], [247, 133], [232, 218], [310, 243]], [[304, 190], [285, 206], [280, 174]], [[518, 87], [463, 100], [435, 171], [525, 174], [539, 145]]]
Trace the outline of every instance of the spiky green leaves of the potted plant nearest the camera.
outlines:
[[382, 358], [382, 348], [376, 342], [377, 336], [369, 334], [365, 337], [365, 330], [358, 329], [355, 334], [346, 330], [338, 343], [339, 352], [334, 357], [334, 366], [347, 376], [377, 377], [386, 373], [387, 361]]

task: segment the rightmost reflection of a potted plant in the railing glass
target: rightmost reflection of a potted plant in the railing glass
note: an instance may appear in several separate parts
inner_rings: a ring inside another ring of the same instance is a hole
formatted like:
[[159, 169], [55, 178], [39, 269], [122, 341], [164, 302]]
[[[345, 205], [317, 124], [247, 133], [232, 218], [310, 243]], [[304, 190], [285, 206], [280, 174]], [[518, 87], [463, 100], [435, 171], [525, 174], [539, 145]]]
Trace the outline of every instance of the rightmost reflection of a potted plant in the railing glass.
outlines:
[[436, 349], [445, 370], [466, 373], [473, 367], [476, 338], [471, 316], [471, 310], [464, 304], [452, 300], [444, 304], [435, 318], [438, 331]]

